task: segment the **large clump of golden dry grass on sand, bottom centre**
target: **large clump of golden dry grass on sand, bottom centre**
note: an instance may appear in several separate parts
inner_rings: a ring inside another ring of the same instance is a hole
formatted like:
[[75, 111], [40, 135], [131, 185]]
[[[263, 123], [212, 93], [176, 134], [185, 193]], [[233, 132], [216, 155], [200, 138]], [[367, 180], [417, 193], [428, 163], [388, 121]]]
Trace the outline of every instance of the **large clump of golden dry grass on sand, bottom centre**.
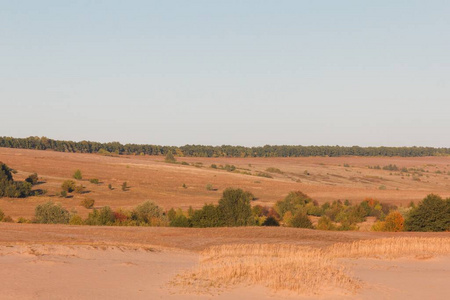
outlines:
[[239, 244], [213, 246], [202, 253], [201, 264], [178, 275], [173, 284], [208, 292], [233, 285], [262, 285], [317, 295], [336, 290], [353, 293], [359, 282], [319, 249], [295, 245]]

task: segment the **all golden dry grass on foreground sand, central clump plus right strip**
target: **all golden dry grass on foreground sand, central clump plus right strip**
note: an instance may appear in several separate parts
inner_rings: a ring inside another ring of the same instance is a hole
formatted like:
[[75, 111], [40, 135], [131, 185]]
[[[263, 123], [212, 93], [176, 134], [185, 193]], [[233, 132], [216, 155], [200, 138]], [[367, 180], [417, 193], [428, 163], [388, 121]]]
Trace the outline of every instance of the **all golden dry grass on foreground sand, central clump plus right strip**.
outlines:
[[228, 244], [202, 252], [198, 267], [178, 275], [174, 285], [194, 292], [239, 284], [317, 295], [327, 290], [356, 293], [362, 282], [339, 258], [431, 257], [450, 254], [450, 238], [385, 238], [337, 243], [317, 249], [286, 244]]

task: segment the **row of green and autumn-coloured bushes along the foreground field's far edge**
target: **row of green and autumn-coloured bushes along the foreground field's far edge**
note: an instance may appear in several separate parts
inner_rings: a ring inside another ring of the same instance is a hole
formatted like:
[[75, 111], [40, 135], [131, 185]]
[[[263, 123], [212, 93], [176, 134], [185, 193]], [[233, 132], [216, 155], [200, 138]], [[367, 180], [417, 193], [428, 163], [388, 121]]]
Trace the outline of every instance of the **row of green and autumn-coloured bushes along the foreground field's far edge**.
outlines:
[[[93, 209], [86, 219], [69, 213], [60, 204], [47, 202], [35, 210], [35, 223], [115, 226], [235, 227], [289, 226], [321, 230], [358, 230], [367, 217], [376, 218], [375, 231], [450, 231], [450, 198], [430, 194], [417, 206], [407, 210], [367, 199], [359, 204], [334, 201], [319, 206], [302, 192], [291, 192], [274, 207], [251, 206], [251, 193], [228, 188], [217, 205], [205, 204], [164, 211], [153, 202], [144, 202], [132, 210], [112, 210], [109, 206]], [[93, 205], [93, 203], [92, 203]], [[90, 205], [89, 207], [92, 207]], [[319, 217], [314, 226], [311, 216]], [[4, 214], [0, 211], [0, 221]], [[6, 218], [6, 217], [5, 217]], [[8, 217], [8, 219], [11, 219]], [[23, 218], [20, 219], [21, 222]]]

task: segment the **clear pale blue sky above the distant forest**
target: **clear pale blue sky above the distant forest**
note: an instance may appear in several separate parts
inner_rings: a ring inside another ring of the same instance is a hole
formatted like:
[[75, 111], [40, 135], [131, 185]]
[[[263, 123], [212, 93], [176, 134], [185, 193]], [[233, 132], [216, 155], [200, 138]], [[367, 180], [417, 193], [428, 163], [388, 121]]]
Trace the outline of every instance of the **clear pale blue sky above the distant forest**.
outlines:
[[450, 147], [450, 1], [0, 0], [0, 136]]

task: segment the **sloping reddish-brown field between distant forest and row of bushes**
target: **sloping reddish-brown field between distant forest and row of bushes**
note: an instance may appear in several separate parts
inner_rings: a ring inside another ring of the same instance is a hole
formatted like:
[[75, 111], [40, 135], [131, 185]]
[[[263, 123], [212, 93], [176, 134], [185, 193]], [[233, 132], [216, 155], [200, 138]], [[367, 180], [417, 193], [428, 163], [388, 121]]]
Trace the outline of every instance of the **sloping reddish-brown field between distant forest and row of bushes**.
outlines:
[[[289, 191], [301, 190], [319, 203], [337, 199], [359, 202], [366, 197], [406, 206], [429, 193], [450, 196], [449, 157], [306, 157], [306, 158], [195, 158], [179, 157], [191, 165], [168, 164], [161, 156], [109, 157], [96, 154], [61, 153], [0, 148], [0, 161], [18, 171], [15, 179], [23, 180], [37, 172], [42, 183], [37, 188], [48, 191], [42, 197], [0, 199], [0, 207], [13, 218], [32, 217], [34, 207], [48, 200], [61, 202], [70, 210], [85, 216], [88, 210], [79, 205], [89, 197], [96, 206], [113, 209], [131, 208], [152, 200], [165, 209], [204, 203], [216, 203], [226, 187], [240, 187], [252, 192], [254, 204], [272, 205]], [[192, 164], [197, 163], [197, 166]], [[235, 165], [237, 172], [210, 168], [211, 164]], [[396, 165], [408, 172], [372, 169], [373, 166]], [[279, 171], [268, 172], [268, 168]], [[70, 179], [76, 169], [83, 173], [80, 181], [86, 194], [73, 198], [55, 196], [61, 183]], [[245, 174], [247, 173], [247, 174]], [[252, 175], [248, 175], [248, 173]], [[256, 176], [266, 173], [273, 178]], [[100, 184], [92, 184], [98, 178]], [[122, 191], [126, 181], [131, 187]], [[208, 191], [207, 184], [215, 190]], [[112, 184], [114, 190], [108, 189]], [[186, 188], [183, 188], [183, 184]]]

